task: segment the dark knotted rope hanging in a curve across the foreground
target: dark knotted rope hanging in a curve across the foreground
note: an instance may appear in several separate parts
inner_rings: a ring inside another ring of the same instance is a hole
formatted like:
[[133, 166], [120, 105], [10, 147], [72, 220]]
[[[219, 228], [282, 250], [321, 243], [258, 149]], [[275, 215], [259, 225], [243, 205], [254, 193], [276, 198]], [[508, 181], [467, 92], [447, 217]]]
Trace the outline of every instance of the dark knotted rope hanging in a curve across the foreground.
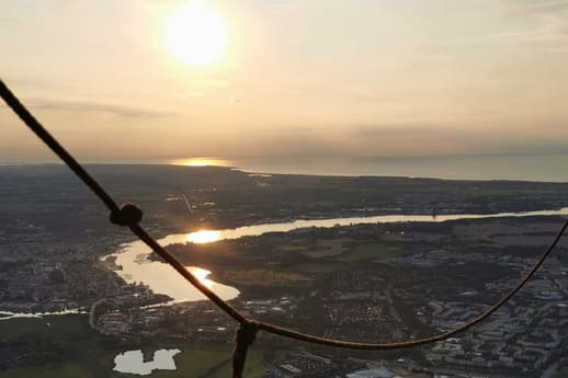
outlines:
[[143, 218], [143, 211], [133, 204], [125, 204], [121, 208], [116, 205], [114, 199], [99, 185], [99, 183], [79, 164], [73, 157], [59, 145], [59, 142], [35, 119], [35, 117], [25, 108], [25, 106], [15, 98], [15, 95], [8, 89], [8, 87], [0, 80], [0, 96], [12, 108], [12, 111], [42, 139], [47, 147], [49, 147], [78, 176], [82, 182], [106, 205], [111, 210], [110, 219], [113, 224], [120, 226], [128, 226], [133, 233], [135, 233], [141, 241], [144, 241], [154, 252], [160, 255], [168, 264], [170, 264], [178, 273], [180, 273], [188, 282], [195, 288], [203, 293], [209, 300], [212, 300], [219, 309], [225, 311], [229, 317], [239, 322], [239, 328], [236, 334], [236, 346], [234, 352], [234, 378], [241, 378], [245, 360], [247, 358], [247, 350], [254, 341], [259, 330], [277, 334], [284, 337], [294, 339], [307, 343], [320, 344], [327, 346], [336, 346], [352, 350], [399, 350], [413, 347], [424, 344], [431, 344], [444, 339], [451, 337], [459, 332], [463, 332], [475, 324], [481, 322], [491, 313], [501, 308], [512, 296], [514, 296], [523, 286], [531, 279], [534, 273], [541, 267], [546, 257], [550, 254], [564, 232], [568, 228], [568, 221], [558, 231], [556, 238], [553, 240], [548, 249], [537, 260], [535, 265], [525, 274], [523, 279], [511, 289], [497, 303], [491, 306], [486, 311], [481, 312], [473, 320], [456, 327], [455, 329], [440, 333], [433, 336], [409, 340], [393, 343], [359, 343], [342, 340], [319, 337], [302, 332], [297, 332], [287, 328], [282, 328], [271, 323], [247, 319], [234, 307], [218, 297], [207, 286], [203, 285], [192, 273], [190, 273], [183, 264], [181, 264], [171, 253], [162, 248], [154, 238], [151, 238], [138, 222]]

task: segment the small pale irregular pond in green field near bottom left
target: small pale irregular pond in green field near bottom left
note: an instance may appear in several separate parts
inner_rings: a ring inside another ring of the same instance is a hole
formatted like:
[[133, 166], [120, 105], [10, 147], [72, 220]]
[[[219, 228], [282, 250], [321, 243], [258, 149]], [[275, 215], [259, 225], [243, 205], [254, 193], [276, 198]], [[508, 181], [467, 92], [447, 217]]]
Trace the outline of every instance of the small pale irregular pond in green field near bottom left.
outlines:
[[114, 371], [150, 375], [154, 370], [175, 370], [173, 356], [181, 353], [180, 350], [159, 350], [154, 353], [152, 360], [145, 362], [140, 350], [120, 353], [114, 357]]

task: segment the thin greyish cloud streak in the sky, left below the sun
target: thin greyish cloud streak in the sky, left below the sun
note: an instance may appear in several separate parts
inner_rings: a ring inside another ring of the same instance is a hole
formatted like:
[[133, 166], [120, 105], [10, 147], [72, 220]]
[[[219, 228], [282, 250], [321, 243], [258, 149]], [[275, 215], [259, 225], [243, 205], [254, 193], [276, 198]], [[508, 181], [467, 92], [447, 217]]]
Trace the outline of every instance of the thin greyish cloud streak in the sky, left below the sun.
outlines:
[[96, 102], [73, 102], [73, 101], [54, 101], [46, 99], [32, 99], [29, 101], [30, 107], [53, 111], [68, 112], [93, 112], [107, 113], [121, 117], [171, 117], [175, 113], [151, 111], [146, 108], [96, 103]]

